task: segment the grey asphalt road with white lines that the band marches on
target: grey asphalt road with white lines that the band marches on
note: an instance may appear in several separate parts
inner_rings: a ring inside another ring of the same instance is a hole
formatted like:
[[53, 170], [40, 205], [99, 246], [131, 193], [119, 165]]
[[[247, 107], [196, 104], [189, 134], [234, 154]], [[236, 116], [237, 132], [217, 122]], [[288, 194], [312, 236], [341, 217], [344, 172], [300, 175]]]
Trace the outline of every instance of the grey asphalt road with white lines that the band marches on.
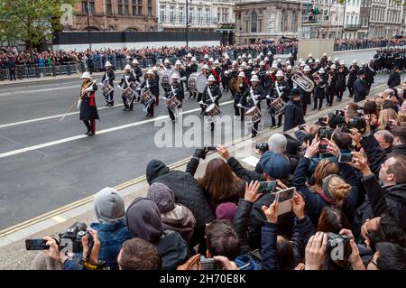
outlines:
[[[376, 82], [386, 79], [387, 75], [378, 76]], [[194, 148], [156, 148], [154, 137], [160, 126], [146, 119], [139, 105], [133, 112], [123, 112], [121, 99], [116, 107], [103, 107], [100, 91], [97, 103], [103, 108], [97, 130], [101, 134], [82, 135], [85, 127], [77, 111], [60, 122], [59, 115], [77, 99], [79, 84], [67, 79], [0, 90], [0, 229], [143, 175], [152, 158], [170, 164], [193, 152]], [[230, 95], [225, 94], [222, 110], [232, 116], [229, 101]], [[196, 101], [186, 99], [186, 115], [200, 117], [194, 110], [198, 110]], [[162, 116], [167, 116], [163, 101], [155, 110], [155, 118]], [[264, 126], [269, 125], [266, 115]], [[238, 129], [244, 131], [244, 125]], [[231, 130], [225, 129], [226, 137]], [[210, 139], [209, 130], [203, 129], [201, 137]]]

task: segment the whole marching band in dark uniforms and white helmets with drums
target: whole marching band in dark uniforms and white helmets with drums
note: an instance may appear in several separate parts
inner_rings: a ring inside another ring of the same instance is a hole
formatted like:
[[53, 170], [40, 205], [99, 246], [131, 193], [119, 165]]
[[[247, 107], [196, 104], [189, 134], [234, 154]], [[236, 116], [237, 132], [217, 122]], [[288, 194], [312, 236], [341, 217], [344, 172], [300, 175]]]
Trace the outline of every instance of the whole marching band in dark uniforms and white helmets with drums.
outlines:
[[[154, 106], [159, 104], [161, 84], [171, 122], [176, 122], [180, 116], [187, 91], [189, 98], [197, 100], [201, 115], [208, 116], [211, 130], [215, 127], [216, 117], [221, 114], [219, 99], [222, 97], [222, 90], [230, 91], [234, 99], [235, 120], [245, 121], [254, 137], [263, 117], [262, 100], [266, 100], [271, 126], [281, 126], [284, 116], [287, 128], [291, 123], [296, 125], [296, 122], [302, 121], [312, 102], [313, 110], [320, 110], [324, 99], [329, 107], [333, 105], [335, 98], [338, 102], [341, 101], [346, 88], [349, 97], [354, 98], [355, 102], [364, 100], [374, 83], [374, 76], [383, 70], [397, 68], [393, 69], [394, 81], [391, 83], [397, 82], [397, 74], [394, 73], [406, 68], [404, 53], [404, 49], [383, 49], [360, 66], [357, 60], [353, 60], [349, 68], [343, 60], [336, 58], [333, 61], [326, 53], [316, 60], [309, 54], [306, 60], [296, 60], [289, 55], [284, 61], [274, 60], [270, 51], [260, 53], [255, 58], [252, 54], [243, 54], [234, 61], [230, 60], [227, 53], [217, 60], [205, 55], [201, 66], [198, 65], [197, 58], [189, 53], [185, 58], [176, 60], [173, 68], [169, 59], [159, 62], [159, 66], [148, 70], [144, 77], [138, 60], [134, 59], [131, 65], [125, 66], [125, 74], [118, 88], [122, 90], [124, 111], [132, 111], [134, 101], [141, 100], [146, 116], [152, 117]], [[106, 107], [113, 107], [115, 72], [110, 62], [107, 61], [105, 67], [101, 88]], [[94, 100], [97, 85], [89, 82], [87, 72], [82, 79], [80, 119], [88, 128], [87, 135], [94, 135], [94, 120], [98, 119]], [[85, 111], [86, 109], [91, 109], [91, 113]], [[301, 109], [300, 113], [298, 109]]]

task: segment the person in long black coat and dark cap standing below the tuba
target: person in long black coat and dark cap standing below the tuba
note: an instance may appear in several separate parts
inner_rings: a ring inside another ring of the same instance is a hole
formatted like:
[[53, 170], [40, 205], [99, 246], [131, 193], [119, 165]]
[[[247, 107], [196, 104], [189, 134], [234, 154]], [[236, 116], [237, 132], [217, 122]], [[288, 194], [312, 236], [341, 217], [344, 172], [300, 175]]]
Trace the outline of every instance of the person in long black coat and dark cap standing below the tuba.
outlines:
[[291, 100], [289, 100], [285, 106], [285, 123], [283, 125], [283, 132], [305, 123], [300, 97], [300, 89], [291, 89], [291, 93], [289, 95]]

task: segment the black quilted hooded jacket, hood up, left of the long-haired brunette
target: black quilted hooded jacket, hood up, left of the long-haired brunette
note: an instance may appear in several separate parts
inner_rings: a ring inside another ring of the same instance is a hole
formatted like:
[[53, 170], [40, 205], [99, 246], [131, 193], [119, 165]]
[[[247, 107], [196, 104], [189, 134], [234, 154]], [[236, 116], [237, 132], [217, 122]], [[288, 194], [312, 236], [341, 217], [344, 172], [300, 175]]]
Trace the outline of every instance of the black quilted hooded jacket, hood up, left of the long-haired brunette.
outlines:
[[175, 202], [186, 206], [193, 213], [196, 218], [196, 228], [216, 218], [204, 191], [188, 169], [186, 172], [170, 171], [161, 161], [152, 160], [147, 166], [146, 179], [150, 185], [153, 182], [160, 182], [171, 188], [175, 194]]

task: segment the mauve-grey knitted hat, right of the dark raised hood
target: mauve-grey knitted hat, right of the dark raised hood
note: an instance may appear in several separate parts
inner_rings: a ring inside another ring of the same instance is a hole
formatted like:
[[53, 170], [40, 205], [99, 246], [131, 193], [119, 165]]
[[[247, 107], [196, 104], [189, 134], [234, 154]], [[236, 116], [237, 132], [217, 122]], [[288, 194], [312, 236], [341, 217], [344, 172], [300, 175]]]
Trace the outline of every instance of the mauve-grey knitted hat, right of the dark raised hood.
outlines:
[[175, 209], [175, 195], [171, 188], [162, 183], [152, 183], [148, 189], [147, 197], [155, 202], [161, 213]]

